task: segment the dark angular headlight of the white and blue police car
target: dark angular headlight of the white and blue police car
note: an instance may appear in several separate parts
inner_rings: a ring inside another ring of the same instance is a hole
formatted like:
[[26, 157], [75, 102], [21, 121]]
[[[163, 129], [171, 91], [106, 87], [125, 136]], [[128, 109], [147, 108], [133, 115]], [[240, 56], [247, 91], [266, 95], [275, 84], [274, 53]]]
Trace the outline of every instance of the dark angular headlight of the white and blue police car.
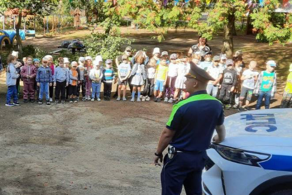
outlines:
[[219, 153], [219, 155], [226, 160], [256, 167], [260, 167], [258, 162], [267, 160], [271, 156], [269, 154], [244, 151], [214, 143], [211, 147], [214, 148]]

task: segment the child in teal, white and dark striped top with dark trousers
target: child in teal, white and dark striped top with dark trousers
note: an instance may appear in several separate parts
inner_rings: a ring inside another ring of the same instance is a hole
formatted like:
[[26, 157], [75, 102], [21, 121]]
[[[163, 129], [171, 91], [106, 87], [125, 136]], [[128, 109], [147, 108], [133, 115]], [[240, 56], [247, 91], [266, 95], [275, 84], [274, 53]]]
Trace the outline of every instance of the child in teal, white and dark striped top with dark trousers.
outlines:
[[103, 84], [104, 84], [104, 98], [105, 101], [110, 101], [112, 80], [114, 79], [114, 72], [111, 67], [112, 60], [106, 60], [106, 68], [103, 70]]

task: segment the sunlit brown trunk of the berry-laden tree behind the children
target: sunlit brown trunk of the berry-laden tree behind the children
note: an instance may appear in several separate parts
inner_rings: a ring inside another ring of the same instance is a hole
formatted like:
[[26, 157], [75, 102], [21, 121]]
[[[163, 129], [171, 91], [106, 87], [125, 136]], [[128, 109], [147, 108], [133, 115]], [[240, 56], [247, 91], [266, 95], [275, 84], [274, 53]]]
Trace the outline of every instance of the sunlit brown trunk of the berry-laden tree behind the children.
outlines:
[[234, 14], [229, 15], [228, 16], [228, 23], [224, 25], [222, 53], [226, 54], [228, 59], [232, 59], [232, 57], [233, 57], [234, 20], [235, 20]]

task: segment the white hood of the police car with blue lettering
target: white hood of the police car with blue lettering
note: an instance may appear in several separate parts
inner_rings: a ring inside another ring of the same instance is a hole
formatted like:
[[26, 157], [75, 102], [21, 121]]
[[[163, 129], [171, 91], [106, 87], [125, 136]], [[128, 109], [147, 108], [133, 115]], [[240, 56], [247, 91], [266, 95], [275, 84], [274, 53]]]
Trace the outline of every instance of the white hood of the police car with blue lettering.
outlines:
[[226, 139], [220, 144], [292, 147], [292, 108], [253, 110], [225, 118]]

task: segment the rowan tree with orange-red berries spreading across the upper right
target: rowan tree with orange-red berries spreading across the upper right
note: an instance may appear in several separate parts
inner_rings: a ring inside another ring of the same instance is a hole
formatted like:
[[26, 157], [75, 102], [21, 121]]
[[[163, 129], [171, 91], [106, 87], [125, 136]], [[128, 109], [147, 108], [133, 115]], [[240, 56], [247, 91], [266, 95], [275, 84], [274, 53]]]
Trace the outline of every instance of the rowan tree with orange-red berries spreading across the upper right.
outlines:
[[[156, 31], [159, 40], [167, 32], [165, 27], [178, 21], [189, 21], [188, 26], [198, 30], [199, 35], [212, 39], [223, 30], [222, 53], [229, 58], [233, 56], [233, 35], [236, 21], [246, 18], [251, 12], [253, 25], [258, 30], [256, 39], [266, 39], [285, 43], [292, 38], [292, 15], [275, 13], [281, 0], [265, 0], [263, 5], [256, 0], [216, 0], [215, 5], [205, 0], [119, 0], [118, 6], [122, 16], [130, 16], [141, 27]], [[256, 7], [250, 8], [249, 3]], [[202, 13], [208, 14], [206, 21]]]

